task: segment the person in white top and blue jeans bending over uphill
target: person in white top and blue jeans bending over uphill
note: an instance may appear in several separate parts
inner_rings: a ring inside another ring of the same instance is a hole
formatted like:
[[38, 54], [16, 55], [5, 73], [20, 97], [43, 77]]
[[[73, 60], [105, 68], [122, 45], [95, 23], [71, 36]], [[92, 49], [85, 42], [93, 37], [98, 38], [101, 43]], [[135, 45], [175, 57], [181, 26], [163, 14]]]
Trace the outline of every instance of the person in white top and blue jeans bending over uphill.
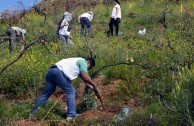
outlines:
[[84, 31], [85, 31], [85, 26], [87, 26], [88, 28], [88, 33], [89, 35], [91, 35], [91, 21], [93, 19], [93, 12], [92, 11], [88, 11], [86, 13], [83, 13], [81, 15], [79, 15], [78, 17], [78, 22], [81, 24], [81, 34], [85, 35]]

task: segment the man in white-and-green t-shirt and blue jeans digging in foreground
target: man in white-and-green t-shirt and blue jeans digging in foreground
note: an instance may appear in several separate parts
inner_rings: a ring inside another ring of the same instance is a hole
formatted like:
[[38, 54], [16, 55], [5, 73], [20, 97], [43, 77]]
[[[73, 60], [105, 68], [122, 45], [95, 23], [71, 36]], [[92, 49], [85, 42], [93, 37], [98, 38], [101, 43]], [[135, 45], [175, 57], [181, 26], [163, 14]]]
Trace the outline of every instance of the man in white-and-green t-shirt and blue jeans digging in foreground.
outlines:
[[96, 95], [99, 95], [97, 85], [92, 81], [88, 70], [95, 66], [93, 58], [72, 57], [62, 59], [51, 66], [45, 77], [46, 85], [42, 94], [38, 97], [31, 111], [30, 118], [37, 112], [39, 106], [43, 106], [46, 100], [55, 91], [56, 86], [61, 87], [66, 94], [67, 113], [66, 118], [77, 117], [75, 103], [75, 88], [71, 81], [78, 76], [85, 82], [86, 87], [91, 88]]

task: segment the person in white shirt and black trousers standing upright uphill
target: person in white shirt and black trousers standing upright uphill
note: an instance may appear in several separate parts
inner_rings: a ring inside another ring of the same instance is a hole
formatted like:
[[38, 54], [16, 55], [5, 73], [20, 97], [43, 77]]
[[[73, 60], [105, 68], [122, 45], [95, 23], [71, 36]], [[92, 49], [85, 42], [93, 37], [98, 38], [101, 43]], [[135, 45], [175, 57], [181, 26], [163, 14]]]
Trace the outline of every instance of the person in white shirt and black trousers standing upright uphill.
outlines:
[[116, 27], [116, 36], [119, 32], [119, 23], [121, 22], [121, 7], [119, 0], [114, 0], [114, 7], [112, 9], [111, 20], [109, 22], [109, 29], [111, 35], [113, 35], [113, 25]]

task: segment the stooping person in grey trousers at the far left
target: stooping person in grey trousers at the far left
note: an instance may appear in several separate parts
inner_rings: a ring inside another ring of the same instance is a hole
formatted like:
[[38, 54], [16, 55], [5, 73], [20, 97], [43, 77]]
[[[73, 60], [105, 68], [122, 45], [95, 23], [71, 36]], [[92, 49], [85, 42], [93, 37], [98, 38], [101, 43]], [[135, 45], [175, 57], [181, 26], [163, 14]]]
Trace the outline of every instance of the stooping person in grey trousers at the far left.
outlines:
[[10, 53], [14, 52], [14, 45], [16, 41], [21, 41], [23, 44], [22, 50], [24, 49], [26, 45], [26, 40], [25, 40], [26, 30], [25, 29], [22, 29], [19, 27], [10, 27], [7, 29], [6, 35], [9, 36]]

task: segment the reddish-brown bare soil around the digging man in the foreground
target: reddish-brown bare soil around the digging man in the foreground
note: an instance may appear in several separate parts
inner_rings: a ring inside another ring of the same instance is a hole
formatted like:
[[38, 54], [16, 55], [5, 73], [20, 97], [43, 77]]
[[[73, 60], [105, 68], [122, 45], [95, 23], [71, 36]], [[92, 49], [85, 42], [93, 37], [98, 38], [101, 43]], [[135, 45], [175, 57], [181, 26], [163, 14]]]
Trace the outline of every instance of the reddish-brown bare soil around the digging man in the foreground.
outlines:
[[[78, 117], [78, 119], [83, 120], [82, 122], [87, 122], [89, 120], [101, 120], [102, 122], [105, 122], [107, 119], [111, 119], [115, 117], [116, 114], [118, 114], [123, 107], [128, 107], [132, 111], [139, 111], [142, 108], [140, 106], [137, 106], [137, 102], [139, 101], [138, 98], [128, 99], [128, 101], [123, 101], [117, 103], [118, 96], [116, 95], [116, 88], [119, 85], [120, 80], [112, 81], [110, 84], [104, 84], [104, 77], [97, 77], [94, 79], [94, 82], [98, 85], [98, 88], [101, 93], [101, 97], [103, 99], [103, 102], [107, 108], [107, 113], [104, 112], [103, 108], [101, 107], [99, 110], [87, 110]], [[81, 83], [76, 88], [76, 103], [78, 104], [80, 101], [80, 98], [83, 95], [85, 84]], [[65, 94], [61, 89], [57, 89], [55, 93], [51, 96], [52, 99], [60, 99], [60, 102], [62, 105], [64, 105], [64, 108], [66, 107], [65, 103]], [[98, 106], [101, 106], [100, 101], [96, 98], [96, 103]], [[18, 120], [17, 122], [14, 122], [14, 125], [16, 126], [42, 126], [42, 125], [49, 125], [48, 122], [38, 122], [38, 121], [30, 121], [30, 120]], [[68, 126], [68, 123], [65, 121], [61, 121], [58, 123], [58, 126]], [[84, 126], [84, 124], [82, 124]]]

